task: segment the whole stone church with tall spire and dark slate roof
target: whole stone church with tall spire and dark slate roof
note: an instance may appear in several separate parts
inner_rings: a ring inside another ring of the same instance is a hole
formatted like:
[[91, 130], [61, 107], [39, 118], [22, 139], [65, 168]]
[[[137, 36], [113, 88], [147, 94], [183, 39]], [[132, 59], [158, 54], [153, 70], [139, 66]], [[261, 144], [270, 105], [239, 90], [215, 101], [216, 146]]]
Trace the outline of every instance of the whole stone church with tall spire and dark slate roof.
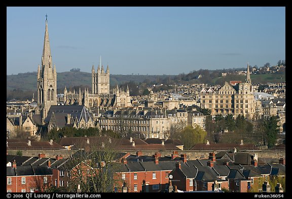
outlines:
[[[103, 91], [106, 90], [103, 88]], [[84, 93], [84, 96], [86, 96], [88, 91]], [[42, 65], [38, 67], [38, 100], [35, 116], [41, 118], [42, 127], [38, 131], [39, 134], [48, 132], [53, 128], [59, 129], [66, 126], [77, 129], [96, 127], [92, 114], [84, 104], [57, 105], [57, 71], [56, 66], [53, 67], [51, 56], [47, 16]]]

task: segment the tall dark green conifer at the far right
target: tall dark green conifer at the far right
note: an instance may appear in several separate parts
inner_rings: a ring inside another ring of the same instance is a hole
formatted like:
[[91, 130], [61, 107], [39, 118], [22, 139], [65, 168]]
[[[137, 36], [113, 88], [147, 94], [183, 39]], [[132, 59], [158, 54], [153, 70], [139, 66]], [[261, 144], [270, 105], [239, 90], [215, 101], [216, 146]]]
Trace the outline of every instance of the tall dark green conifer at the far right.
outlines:
[[277, 141], [277, 136], [279, 133], [279, 126], [277, 125], [277, 123], [277, 116], [271, 116], [268, 120], [265, 121], [265, 134], [269, 148], [275, 146]]

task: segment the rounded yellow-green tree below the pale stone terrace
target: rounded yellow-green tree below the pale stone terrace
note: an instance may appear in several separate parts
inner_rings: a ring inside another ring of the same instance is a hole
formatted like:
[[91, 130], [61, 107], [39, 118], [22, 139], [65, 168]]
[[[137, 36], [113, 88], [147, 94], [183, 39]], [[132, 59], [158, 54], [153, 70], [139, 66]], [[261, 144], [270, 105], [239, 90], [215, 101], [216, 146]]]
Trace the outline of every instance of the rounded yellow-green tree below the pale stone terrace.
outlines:
[[198, 125], [195, 129], [192, 126], [187, 126], [180, 133], [180, 139], [186, 148], [191, 148], [197, 143], [204, 143], [207, 132], [201, 129]]

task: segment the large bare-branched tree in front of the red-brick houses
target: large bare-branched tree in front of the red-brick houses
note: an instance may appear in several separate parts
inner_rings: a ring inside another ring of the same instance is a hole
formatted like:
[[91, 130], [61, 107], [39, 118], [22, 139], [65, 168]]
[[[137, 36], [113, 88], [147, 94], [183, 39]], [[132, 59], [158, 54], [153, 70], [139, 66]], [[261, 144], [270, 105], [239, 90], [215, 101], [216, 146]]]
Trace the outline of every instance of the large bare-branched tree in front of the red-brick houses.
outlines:
[[[121, 178], [113, 177], [120, 167], [115, 163], [118, 153], [113, 150], [115, 141], [111, 138], [97, 139], [96, 142], [79, 143], [76, 152], [64, 165], [70, 172], [68, 192], [76, 192], [80, 185], [82, 192], [113, 192], [116, 184], [121, 184]], [[85, 145], [83, 145], [85, 144]]]

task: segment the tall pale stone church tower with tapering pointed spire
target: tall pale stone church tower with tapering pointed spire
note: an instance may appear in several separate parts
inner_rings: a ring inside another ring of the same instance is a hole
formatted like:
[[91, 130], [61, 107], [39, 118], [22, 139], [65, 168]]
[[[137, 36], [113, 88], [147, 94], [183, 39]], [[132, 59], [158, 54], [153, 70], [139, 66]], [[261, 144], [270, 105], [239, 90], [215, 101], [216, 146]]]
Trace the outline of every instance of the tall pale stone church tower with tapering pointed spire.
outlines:
[[38, 67], [38, 114], [41, 114], [42, 123], [51, 105], [57, 105], [57, 71], [53, 67], [51, 56], [48, 19], [46, 15], [46, 29], [44, 38], [44, 49], [42, 55], [42, 65]]

